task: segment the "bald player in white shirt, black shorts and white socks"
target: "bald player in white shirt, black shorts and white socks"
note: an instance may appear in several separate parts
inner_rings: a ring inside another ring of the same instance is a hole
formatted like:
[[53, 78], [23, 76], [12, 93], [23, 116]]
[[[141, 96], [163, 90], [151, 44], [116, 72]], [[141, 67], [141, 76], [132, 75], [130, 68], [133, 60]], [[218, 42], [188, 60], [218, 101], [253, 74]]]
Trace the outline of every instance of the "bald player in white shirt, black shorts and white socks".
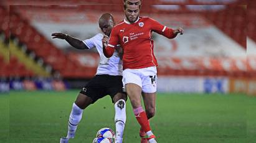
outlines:
[[[106, 13], [100, 17], [98, 24], [102, 32], [110, 36], [115, 21], [111, 14]], [[53, 39], [65, 39], [70, 45], [78, 49], [91, 49], [96, 47], [100, 54], [100, 63], [98, 64], [97, 73], [92, 80], [82, 88], [75, 103], [73, 103], [72, 111], [69, 116], [67, 137], [62, 137], [60, 142], [68, 142], [70, 138], [75, 137], [75, 131], [85, 108], [95, 103], [97, 99], [110, 95], [112, 102], [115, 104], [115, 143], [121, 143], [126, 122], [125, 101], [127, 99], [126, 93], [123, 91], [121, 52], [115, 50], [113, 57], [105, 57], [102, 47], [103, 34], [97, 34], [91, 39], [86, 40], [75, 39], [70, 35], [62, 33], [54, 33], [52, 36]]]

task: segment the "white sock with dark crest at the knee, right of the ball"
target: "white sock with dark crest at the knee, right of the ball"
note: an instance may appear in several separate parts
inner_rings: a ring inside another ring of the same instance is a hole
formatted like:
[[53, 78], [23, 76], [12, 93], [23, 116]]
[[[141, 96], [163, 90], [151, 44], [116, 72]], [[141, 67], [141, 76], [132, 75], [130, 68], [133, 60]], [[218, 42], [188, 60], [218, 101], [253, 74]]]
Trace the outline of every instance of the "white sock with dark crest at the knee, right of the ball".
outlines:
[[126, 104], [125, 100], [120, 99], [115, 103], [115, 124], [116, 134], [115, 143], [121, 143], [123, 139], [123, 130], [126, 122]]

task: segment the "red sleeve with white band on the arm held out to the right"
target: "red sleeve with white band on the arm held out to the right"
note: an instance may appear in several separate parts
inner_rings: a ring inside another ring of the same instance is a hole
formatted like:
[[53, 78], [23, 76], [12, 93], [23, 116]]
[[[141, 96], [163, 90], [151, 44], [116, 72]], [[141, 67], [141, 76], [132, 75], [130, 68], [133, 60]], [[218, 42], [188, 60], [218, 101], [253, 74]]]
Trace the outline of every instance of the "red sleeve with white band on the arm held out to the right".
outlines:
[[173, 33], [173, 29], [167, 27], [166, 25], [160, 24], [158, 21], [155, 21], [154, 19], [150, 19], [151, 22], [151, 29], [161, 35], [164, 35], [164, 37], [167, 37], [168, 39], [173, 39], [176, 37], [176, 35]]

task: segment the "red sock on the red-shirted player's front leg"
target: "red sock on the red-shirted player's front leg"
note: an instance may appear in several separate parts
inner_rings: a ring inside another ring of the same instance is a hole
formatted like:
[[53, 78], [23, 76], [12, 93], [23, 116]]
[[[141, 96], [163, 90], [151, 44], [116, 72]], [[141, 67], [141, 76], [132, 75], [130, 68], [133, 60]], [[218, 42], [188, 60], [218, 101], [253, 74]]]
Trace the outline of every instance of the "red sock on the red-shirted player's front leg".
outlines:
[[148, 122], [148, 118], [147, 118], [146, 113], [143, 110], [143, 108], [140, 107], [140, 108], [133, 109], [133, 112], [135, 113], [135, 117], [136, 117], [137, 121], [139, 122], [141, 128], [145, 132], [151, 131], [149, 122]]

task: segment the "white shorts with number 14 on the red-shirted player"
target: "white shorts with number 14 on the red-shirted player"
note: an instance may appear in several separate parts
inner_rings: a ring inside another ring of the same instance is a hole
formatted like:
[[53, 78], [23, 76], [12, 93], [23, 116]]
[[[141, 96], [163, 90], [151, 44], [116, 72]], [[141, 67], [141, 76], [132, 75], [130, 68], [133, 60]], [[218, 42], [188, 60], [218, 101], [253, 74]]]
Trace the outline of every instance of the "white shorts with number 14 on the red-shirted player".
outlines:
[[123, 71], [123, 86], [127, 83], [135, 83], [144, 93], [156, 92], [156, 67], [125, 69]]

